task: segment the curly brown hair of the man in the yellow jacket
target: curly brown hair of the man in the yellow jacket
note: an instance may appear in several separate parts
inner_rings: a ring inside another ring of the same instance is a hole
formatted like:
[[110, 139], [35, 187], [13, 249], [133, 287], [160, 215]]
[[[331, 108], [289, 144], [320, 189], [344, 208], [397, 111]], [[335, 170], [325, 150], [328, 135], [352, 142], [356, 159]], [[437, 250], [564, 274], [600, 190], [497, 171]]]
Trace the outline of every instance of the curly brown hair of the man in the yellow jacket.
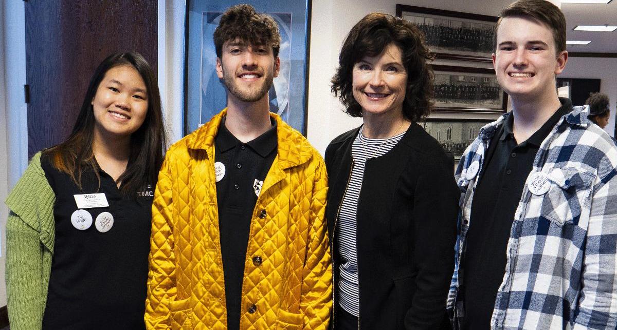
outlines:
[[218, 58], [221, 58], [225, 41], [235, 39], [251, 45], [272, 46], [275, 58], [281, 47], [281, 34], [275, 20], [270, 15], [258, 14], [250, 4], [237, 4], [230, 7], [221, 16], [213, 37]]

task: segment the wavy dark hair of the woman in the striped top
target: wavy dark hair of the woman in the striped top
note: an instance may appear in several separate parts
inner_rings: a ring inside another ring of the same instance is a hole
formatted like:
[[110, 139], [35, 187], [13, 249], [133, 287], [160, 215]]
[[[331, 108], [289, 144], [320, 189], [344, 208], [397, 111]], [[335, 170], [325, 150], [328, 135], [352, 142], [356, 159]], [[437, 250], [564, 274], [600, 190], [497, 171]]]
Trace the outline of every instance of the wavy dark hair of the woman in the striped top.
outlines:
[[341, 99], [346, 113], [362, 117], [362, 107], [354, 99], [352, 71], [364, 57], [381, 54], [389, 44], [399, 47], [407, 72], [403, 115], [412, 122], [426, 118], [433, 108], [433, 54], [424, 45], [424, 34], [411, 22], [392, 15], [366, 15], [349, 31], [339, 55], [339, 67], [331, 79], [332, 92]]

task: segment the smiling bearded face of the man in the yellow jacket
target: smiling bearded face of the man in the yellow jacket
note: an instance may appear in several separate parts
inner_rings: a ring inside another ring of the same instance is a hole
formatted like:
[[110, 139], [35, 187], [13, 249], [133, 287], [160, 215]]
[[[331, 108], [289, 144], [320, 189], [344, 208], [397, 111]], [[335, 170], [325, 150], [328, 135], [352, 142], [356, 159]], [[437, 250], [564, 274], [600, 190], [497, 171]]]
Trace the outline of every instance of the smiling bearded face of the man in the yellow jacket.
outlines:
[[217, 57], [217, 75], [223, 79], [228, 97], [242, 102], [268, 97], [279, 69], [279, 59], [273, 56], [271, 46], [248, 45], [239, 39], [226, 41], [221, 58]]

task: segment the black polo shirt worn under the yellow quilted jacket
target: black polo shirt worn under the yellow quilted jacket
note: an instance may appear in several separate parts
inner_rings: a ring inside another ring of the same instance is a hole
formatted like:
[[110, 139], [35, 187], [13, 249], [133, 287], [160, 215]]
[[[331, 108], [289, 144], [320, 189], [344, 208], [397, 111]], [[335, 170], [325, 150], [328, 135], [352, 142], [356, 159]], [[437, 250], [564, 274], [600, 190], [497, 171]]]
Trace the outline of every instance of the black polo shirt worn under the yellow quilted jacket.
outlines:
[[272, 127], [267, 132], [243, 143], [228, 131], [223, 118], [214, 139], [214, 161], [225, 167], [225, 175], [217, 182], [217, 201], [227, 325], [231, 330], [240, 328], [244, 260], [253, 210], [276, 157], [276, 121], [270, 121]]

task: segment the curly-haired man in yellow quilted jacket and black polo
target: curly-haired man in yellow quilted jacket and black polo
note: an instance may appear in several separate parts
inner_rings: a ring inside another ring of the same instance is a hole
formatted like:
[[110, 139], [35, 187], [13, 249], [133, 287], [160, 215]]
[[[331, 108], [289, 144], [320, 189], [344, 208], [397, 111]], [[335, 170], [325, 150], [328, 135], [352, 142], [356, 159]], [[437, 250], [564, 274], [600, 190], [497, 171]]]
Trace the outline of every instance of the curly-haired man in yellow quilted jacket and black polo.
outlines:
[[148, 329], [326, 329], [323, 159], [271, 114], [274, 20], [238, 5], [214, 33], [227, 108], [172, 145], [152, 206]]

